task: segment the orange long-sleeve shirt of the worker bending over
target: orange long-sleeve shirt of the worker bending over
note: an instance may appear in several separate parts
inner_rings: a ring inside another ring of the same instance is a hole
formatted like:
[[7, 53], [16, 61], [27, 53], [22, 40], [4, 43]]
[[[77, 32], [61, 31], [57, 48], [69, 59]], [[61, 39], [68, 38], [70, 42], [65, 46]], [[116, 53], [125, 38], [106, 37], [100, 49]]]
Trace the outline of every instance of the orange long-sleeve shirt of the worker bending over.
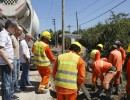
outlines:
[[111, 63], [105, 62], [101, 59], [94, 61], [92, 76], [98, 76], [103, 81], [103, 73], [106, 73], [112, 67]]

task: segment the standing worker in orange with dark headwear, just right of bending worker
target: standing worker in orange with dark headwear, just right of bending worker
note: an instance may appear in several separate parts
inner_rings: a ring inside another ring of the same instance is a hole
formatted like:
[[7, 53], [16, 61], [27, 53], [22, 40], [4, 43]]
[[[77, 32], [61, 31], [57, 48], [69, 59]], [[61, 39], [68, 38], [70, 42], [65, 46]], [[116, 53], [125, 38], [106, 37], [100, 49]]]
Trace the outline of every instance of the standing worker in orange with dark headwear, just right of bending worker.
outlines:
[[119, 94], [120, 77], [122, 73], [122, 55], [121, 52], [118, 50], [117, 45], [112, 46], [112, 51], [109, 54], [108, 62], [110, 62], [117, 69], [114, 84], [116, 86], [115, 94]]

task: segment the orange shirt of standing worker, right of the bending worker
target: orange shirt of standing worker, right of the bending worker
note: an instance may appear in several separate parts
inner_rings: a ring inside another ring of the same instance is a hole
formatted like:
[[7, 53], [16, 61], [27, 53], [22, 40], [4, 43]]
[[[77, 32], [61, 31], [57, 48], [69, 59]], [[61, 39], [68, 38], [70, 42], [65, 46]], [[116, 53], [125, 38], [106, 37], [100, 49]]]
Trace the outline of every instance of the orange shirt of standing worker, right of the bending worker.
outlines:
[[108, 62], [117, 68], [117, 71], [122, 71], [122, 56], [121, 52], [114, 49], [110, 52]]

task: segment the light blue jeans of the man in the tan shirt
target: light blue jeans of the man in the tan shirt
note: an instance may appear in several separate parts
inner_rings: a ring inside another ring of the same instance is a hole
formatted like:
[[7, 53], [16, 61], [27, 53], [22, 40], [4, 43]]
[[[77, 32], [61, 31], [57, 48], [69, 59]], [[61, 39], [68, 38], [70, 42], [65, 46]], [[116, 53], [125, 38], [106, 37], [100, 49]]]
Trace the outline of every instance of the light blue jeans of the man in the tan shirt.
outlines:
[[15, 68], [15, 73], [14, 73], [14, 90], [19, 90], [18, 87], [18, 78], [19, 78], [19, 72], [20, 72], [20, 61], [19, 59], [14, 60], [14, 68]]

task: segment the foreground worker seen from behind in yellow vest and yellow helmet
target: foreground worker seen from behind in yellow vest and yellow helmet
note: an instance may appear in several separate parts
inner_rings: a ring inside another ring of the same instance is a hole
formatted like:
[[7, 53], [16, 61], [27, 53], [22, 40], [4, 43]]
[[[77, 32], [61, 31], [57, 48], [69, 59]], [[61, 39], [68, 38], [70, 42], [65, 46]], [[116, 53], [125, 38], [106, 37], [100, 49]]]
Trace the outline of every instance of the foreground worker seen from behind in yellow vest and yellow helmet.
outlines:
[[82, 51], [79, 42], [72, 42], [69, 52], [58, 56], [53, 69], [57, 100], [76, 100], [77, 91], [85, 79], [85, 62], [78, 55]]

